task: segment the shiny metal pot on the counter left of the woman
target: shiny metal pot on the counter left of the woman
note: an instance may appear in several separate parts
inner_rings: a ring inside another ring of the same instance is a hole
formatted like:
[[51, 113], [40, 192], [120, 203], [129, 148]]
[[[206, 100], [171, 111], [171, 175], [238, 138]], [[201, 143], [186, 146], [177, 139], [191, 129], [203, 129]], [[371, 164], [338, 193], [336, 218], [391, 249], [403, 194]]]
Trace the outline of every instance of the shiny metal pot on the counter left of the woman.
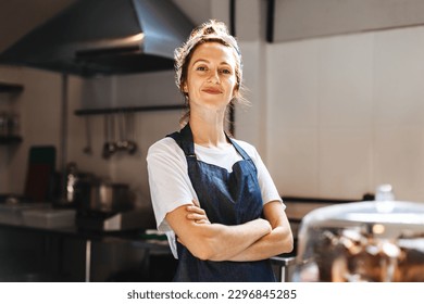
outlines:
[[134, 208], [135, 198], [126, 183], [90, 178], [76, 182], [75, 201], [83, 212], [113, 213]]

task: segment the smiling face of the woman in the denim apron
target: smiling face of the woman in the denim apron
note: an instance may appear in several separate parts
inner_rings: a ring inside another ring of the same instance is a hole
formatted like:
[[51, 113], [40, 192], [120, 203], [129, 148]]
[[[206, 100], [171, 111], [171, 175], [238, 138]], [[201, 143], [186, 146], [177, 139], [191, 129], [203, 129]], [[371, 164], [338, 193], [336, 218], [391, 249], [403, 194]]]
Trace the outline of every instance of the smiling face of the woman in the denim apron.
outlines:
[[196, 48], [183, 85], [191, 110], [196, 105], [225, 110], [236, 93], [236, 59], [230, 47], [205, 42]]

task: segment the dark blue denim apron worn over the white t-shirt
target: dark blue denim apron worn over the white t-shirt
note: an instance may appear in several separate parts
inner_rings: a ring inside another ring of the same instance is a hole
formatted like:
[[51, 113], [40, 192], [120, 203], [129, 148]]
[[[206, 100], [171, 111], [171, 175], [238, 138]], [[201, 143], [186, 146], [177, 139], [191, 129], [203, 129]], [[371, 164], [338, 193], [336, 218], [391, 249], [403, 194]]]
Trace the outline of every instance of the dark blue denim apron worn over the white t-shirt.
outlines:
[[[169, 135], [183, 149], [188, 175], [201, 207], [211, 223], [239, 225], [262, 215], [262, 197], [257, 168], [249, 155], [232, 139], [242, 161], [233, 165], [233, 172], [196, 159], [190, 126]], [[270, 259], [255, 262], [212, 262], [195, 257], [177, 242], [178, 267], [174, 281], [275, 281]]]

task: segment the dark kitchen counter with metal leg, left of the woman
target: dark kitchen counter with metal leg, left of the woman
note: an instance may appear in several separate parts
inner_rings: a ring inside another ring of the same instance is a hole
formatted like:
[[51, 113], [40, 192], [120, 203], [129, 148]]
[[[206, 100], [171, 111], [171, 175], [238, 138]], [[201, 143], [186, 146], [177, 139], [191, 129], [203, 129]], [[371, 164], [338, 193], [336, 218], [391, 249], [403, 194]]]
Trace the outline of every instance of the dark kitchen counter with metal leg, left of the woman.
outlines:
[[[42, 226], [39, 225], [39, 223], [38, 224], [33, 223], [37, 225], [32, 225], [32, 223], [28, 223], [27, 220], [23, 220], [21, 217], [18, 217], [20, 211], [22, 210], [27, 210], [27, 208], [23, 206], [4, 206], [4, 205], [0, 206], [0, 214], [2, 214], [0, 216], [0, 231], [3, 236], [11, 236], [1, 239], [1, 241], [4, 242], [5, 241], [4, 239], [7, 240], [10, 239], [11, 241], [20, 241], [18, 239], [22, 238], [23, 242], [25, 242], [26, 238], [35, 239], [38, 238], [37, 236], [40, 236], [42, 237], [42, 239], [47, 239], [47, 244], [51, 244], [53, 242], [60, 243], [58, 245], [59, 250], [54, 251], [54, 254], [59, 254], [59, 255], [62, 254], [64, 248], [67, 246], [67, 244], [64, 245], [63, 242], [65, 243], [71, 242], [74, 244], [75, 242], [77, 242], [79, 244], [77, 245], [78, 250], [84, 251], [82, 253], [82, 256], [84, 256], [83, 270], [84, 270], [85, 281], [92, 280], [92, 263], [99, 263], [99, 258], [104, 259], [104, 256], [102, 256], [102, 253], [100, 252], [101, 250], [103, 251], [107, 250], [108, 251], [107, 255], [110, 255], [110, 258], [112, 258], [113, 261], [115, 261], [116, 258], [127, 259], [125, 255], [117, 254], [116, 252], [124, 251], [124, 254], [127, 254], [127, 252], [129, 252], [128, 256], [130, 258], [133, 259], [142, 258], [145, 261], [141, 264], [145, 264], [144, 267], [146, 269], [149, 267], [149, 265], [147, 264], [149, 264], [150, 261], [152, 261], [152, 256], [153, 257], [162, 256], [163, 258], [166, 259], [173, 259], [171, 250], [166, 241], [163, 241], [162, 236], [158, 236], [158, 237], [152, 235], [147, 236], [145, 233], [145, 229], [123, 230], [123, 231], [98, 231], [98, 230], [80, 229], [75, 225], [75, 220], [73, 220], [71, 225], [65, 225], [65, 226], [59, 225], [58, 227], [54, 226], [49, 227], [48, 225]], [[46, 242], [42, 241], [40, 243], [41, 249], [42, 249], [42, 243]], [[17, 246], [22, 246], [22, 244]], [[0, 254], [4, 255], [4, 251], [10, 252], [8, 248], [10, 248], [8, 243], [5, 243], [4, 246], [0, 245], [0, 250], [3, 249], [3, 253], [0, 251]], [[124, 248], [124, 250], [122, 250], [122, 248]], [[51, 248], [50, 250], [48, 249], [48, 252], [45, 252], [45, 254], [50, 254], [50, 252], [53, 252]], [[116, 254], [117, 256], [114, 257]], [[15, 257], [13, 257], [13, 252], [9, 253], [8, 256], [10, 255], [12, 255], [13, 261], [16, 259]], [[54, 258], [59, 259], [57, 265], [62, 265], [58, 267], [63, 267], [63, 262], [60, 261], [62, 257], [54, 257]], [[126, 262], [124, 261], [123, 264], [125, 263]], [[100, 266], [97, 266], [95, 268], [98, 270], [99, 267]], [[129, 268], [132, 267], [133, 266], [129, 266]], [[58, 269], [53, 269], [53, 270], [57, 271]], [[103, 269], [100, 269], [100, 271], [103, 271]], [[98, 275], [96, 276], [99, 277]]]

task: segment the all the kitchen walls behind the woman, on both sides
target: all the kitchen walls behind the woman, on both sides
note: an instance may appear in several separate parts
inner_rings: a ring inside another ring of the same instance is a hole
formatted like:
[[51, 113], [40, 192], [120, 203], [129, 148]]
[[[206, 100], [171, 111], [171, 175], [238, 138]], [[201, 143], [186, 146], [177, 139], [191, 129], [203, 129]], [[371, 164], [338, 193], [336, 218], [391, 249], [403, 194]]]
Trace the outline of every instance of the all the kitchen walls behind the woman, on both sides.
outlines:
[[[20, 38], [13, 34], [22, 36], [73, 1], [27, 2], [0, 2], [0, 51]], [[194, 24], [229, 21], [227, 0], [173, 2]], [[271, 2], [273, 18], [269, 1], [236, 1], [235, 28], [251, 101], [250, 107], [236, 109], [236, 137], [258, 148], [282, 195], [359, 200], [388, 182], [398, 200], [424, 201], [424, 4]], [[272, 42], [265, 39], [270, 24]], [[0, 94], [0, 109], [18, 114], [23, 137], [17, 145], [0, 147], [0, 192], [22, 193], [28, 148], [60, 148], [62, 75], [0, 66], [0, 80], [24, 86], [18, 94]], [[67, 98], [66, 161], [130, 183], [138, 202], [149, 204], [147, 150], [178, 128], [180, 111], [136, 113], [139, 151], [110, 160], [101, 157], [102, 115], [89, 116], [92, 154], [87, 155], [87, 116], [74, 111], [182, 103], [174, 73], [70, 76]]]

